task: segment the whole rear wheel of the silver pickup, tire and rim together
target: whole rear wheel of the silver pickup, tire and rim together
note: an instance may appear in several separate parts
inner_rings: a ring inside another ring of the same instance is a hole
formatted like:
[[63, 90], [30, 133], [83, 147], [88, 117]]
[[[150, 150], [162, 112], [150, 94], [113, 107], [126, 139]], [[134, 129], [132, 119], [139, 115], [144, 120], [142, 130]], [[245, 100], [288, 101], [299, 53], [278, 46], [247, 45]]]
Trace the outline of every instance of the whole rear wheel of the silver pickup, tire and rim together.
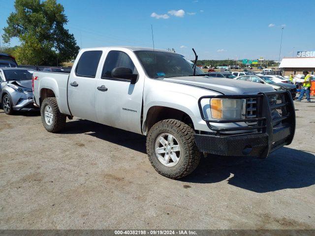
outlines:
[[48, 132], [57, 133], [65, 126], [66, 115], [60, 113], [55, 97], [47, 97], [40, 107], [41, 121]]

